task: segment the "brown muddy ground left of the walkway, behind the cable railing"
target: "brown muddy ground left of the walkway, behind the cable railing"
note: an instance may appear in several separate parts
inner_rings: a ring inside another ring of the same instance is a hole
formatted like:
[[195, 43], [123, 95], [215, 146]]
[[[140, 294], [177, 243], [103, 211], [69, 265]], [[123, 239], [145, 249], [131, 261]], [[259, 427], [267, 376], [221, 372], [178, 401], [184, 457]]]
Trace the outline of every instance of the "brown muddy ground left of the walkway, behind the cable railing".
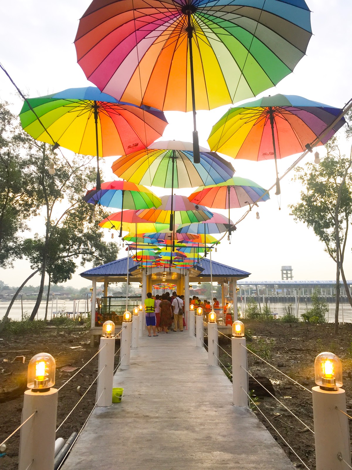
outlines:
[[[8, 437], [21, 423], [23, 392], [27, 389], [28, 361], [38, 352], [49, 352], [56, 360], [55, 387], [59, 388], [70, 376], [73, 376], [85, 362], [98, 351], [91, 348], [90, 336], [84, 328], [75, 330], [47, 329], [37, 335], [26, 334], [20, 337], [1, 334], [0, 338], [0, 442]], [[78, 347], [77, 347], [78, 346]], [[116, 351], [120, 340], [116, 340]], [[25, 356], [24, 364], [14, 361], [16, 356]], [[4, 361], [5, 360], [5, 361]], [[115, 365], [119, 354], [115, 356]], [[65, 366], [77, 367], [77, 370], [65, 372]], [[98, 355], [87, 364], [76, 377], [59, 392], [57, 408], [57, 426], [69, 414], [80, 396], [87, 390], [98, 374]], [[77, 392], [77, 386], [80, 391]], [[84, 396], [77, 408], [57, 432], [56, 437], [68, 439], [74, 431], [79, 431], [95, 403], [96, 383]], [[17, 397], [14, 399], [10, 399]], [[20, 432], [18, 431], [6, 443], [6, 455], [0, 457], [1, 470], [17, 470]]]

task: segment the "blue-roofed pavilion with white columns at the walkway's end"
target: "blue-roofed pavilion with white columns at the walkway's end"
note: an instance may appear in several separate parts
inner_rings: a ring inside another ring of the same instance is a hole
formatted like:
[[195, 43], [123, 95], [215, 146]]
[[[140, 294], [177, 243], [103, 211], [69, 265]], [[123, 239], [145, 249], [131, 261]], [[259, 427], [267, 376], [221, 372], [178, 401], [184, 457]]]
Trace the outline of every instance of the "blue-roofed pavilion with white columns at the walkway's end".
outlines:
[[[117, 259], [110, 263], [93, 267], [81, 273], [80, 275], [85, 279], [92, 281], [92, 305], [96, 305], [96, 287], [97, 282], [104, 282], [104, 297], [107, 297], [107, 288], [109, 282], [126, 282], [127, 280], [127, 264], [129, 281], [139, 282], [142, 284], [142, 305], [146, 298], [147, 292], [152, 291], [153, 284], [160, 282], [172, 282], [176, 284], [176, 291], [179, 295], [184, 295], [185, 298], [185, 317], [187, 318], [187, 324], [189, 324], [189, 304], [187, 300], [190, 297], [189, 283], [190, 282], [213, 282], [216, 281], [222, 286], [222, 305], [224, 305], [224, 283], [232, 282], [233, 292], [233, 305], [234, 312], [237, 311], [237, 281], [239, 279], [245, 279], [251, 273], [243, 271], [241, 269], [226, 266], [217, 261], [210, 261], [209, 258], [202, 258], [197, 261], [195, 266], [189, 269], [171, 268], [165, 271], [160, 268], [145, 268], [136, 262], [132, 257], [129, 258], [127, 263], [127, 257]], [[162, 279], [165, 281], [162, 281]], [[92, 315], [91, 323], [91, 336], [101, 334], [101, 327], [95, 325], [95, 315]]]

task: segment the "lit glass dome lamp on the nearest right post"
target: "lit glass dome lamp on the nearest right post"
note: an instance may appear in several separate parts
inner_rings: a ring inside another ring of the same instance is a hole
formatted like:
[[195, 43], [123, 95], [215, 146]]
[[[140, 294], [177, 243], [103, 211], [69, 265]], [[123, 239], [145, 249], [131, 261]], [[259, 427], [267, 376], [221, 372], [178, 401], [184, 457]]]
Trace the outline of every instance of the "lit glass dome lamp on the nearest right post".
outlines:
[[342, 387], [342, 364], [336, 354], [321, 352], [314, 360], [315, 383], [322, 390], [336, 392]]

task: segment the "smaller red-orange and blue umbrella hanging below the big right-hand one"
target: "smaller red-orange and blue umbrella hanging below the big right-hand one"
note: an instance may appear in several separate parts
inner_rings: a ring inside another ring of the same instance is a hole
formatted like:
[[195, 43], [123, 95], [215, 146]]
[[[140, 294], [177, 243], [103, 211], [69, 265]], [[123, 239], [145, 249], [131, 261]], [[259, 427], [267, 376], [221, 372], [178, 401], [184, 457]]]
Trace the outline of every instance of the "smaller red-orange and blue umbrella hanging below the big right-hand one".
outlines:
[[[230, 225], [230, 208], [253, 204], [260, 196], [262, 196], [260, 201], [267, 201], [269, 195], [264, 194], [265, 192], [265, 189], [254, 183], [254, 181], [234, 176], [224, 183], [201, 186], [188, 199], [195, 204], [202, 203], [208, 207], [229, 209]], [[229, 235], [231, 235], [231, 232]]]

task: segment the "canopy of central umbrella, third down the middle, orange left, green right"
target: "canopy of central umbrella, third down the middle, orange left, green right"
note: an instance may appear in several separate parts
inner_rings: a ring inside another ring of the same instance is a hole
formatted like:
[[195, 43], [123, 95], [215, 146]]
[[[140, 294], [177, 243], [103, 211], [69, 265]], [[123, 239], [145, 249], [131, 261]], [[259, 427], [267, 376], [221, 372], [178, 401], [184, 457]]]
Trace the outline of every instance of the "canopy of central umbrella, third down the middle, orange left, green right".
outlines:
[[[172, 201], [173, 199], [173, 201]], [[186, 196], [161, 196], [161, 205], [157, 209], [138, 211], [138, 216], [151, 222], [168, 223], [171, 215], [171, 205], [175, 214], [176, 224], [200, 222], [213, 217], [213, 213], [204, 206], [191, 203]]]

